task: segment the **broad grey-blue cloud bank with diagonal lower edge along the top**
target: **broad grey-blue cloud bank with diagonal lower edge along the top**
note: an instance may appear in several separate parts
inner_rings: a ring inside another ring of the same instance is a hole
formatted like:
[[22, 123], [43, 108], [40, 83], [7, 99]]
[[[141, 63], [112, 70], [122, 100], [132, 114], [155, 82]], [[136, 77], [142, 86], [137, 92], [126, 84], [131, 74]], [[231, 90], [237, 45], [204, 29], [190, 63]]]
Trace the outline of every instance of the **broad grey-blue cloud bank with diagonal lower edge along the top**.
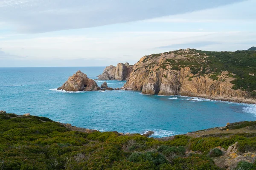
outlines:
[[245, 0], [2, 0], [0, 22], [22, 33], [89, 28], [214, 8]]

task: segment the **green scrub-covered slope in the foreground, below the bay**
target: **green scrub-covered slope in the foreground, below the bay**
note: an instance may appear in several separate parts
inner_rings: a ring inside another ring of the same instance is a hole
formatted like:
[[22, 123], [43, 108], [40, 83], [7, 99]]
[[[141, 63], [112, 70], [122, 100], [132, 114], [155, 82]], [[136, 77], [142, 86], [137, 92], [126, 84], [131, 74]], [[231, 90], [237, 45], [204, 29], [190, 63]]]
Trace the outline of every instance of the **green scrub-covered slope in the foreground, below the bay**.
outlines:
[[[255, 125], [256, 122], [251, 123], [250, 127]], [[255, 136], [256, 133], [197, 138], [178, 135], [160, 141], [140, 134], [71, 131], [48, 118], [0, 112], [0, 170], [221, 170], [215, 162], [222, 159], [224, 152], [214, 148], [227, 149], [238, 142], [238, 154], [255, 152]], [[252, 153], [249, 155], [237, 160], [250, 163], [238, 166], [253, 170], [255, 158]], [[236, 160], [225, 158], [228, 162]]]

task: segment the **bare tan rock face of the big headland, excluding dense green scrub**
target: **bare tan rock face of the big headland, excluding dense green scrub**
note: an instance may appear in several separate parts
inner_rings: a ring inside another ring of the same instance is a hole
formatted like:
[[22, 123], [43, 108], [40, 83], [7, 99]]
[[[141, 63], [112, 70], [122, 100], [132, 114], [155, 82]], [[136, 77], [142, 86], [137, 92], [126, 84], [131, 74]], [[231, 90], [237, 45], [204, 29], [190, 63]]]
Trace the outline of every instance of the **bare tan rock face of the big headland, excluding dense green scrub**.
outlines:
[[142, 91], [143, 94], [201, 96], [256, 103], [247, 91], [232, 89], [234, 78], [229, 72], [215, 74], [203, 67], [198, 68], [198, 72], [194, 71], [198, 67], [194, 62], [207, 65], [208, 57], [190, 49], [145, 56], [134, 65], [123, 88]]

